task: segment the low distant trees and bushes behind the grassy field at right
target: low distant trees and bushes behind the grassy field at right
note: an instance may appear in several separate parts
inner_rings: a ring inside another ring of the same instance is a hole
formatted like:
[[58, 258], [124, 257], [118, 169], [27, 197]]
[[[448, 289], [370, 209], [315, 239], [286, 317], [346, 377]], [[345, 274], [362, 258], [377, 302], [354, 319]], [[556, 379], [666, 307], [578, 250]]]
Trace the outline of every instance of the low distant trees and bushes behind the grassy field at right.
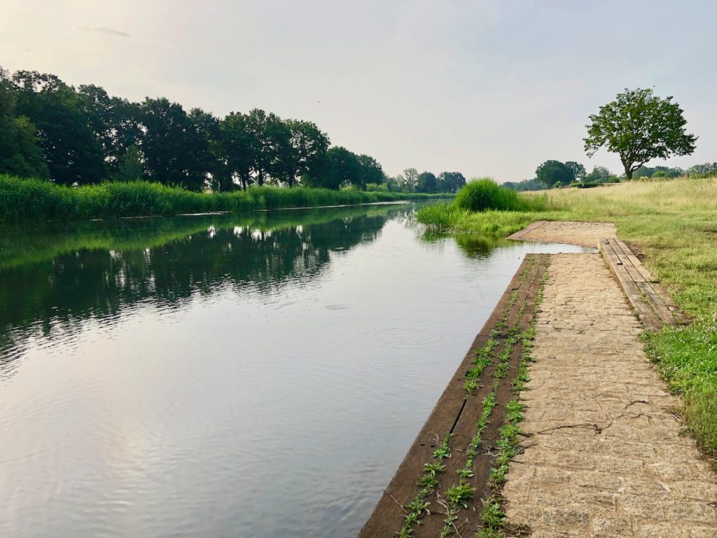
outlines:
[[[717, 162], [695, 164], [686, 170], [679, 167], [670, 168], [669, 166], [655, 166], [653, 168], [640, 166], [632, 174], [632, 179], [670, 179], [680, 176], [717, 176]], [[503, 183], [503, 187], [508, 187], [508, 189], [515, 191], [539, 191], [554, 187], [565, 187], [566, 185], [590, 187], [603, 183], [617, 183], [617, 181], [625, 181], [625, 174], [617, 176], [604, 166], [594, 166], [592, 172], [587, 174], [585, 167], [574, 161], [566, 163], [545, 161], [536, 169], [534, 179], [523, 179], [523, 181], [518, 182], [507, 181]]]

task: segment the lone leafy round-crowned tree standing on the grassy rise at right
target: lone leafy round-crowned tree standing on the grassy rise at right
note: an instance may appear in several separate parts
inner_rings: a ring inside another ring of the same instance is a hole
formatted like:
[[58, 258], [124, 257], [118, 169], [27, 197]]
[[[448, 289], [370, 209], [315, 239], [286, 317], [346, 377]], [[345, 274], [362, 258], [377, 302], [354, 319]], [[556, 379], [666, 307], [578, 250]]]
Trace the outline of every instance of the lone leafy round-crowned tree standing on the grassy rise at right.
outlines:
[[586, 153], [592, 157], [607, 146], [607, 151], [619, 155], [627, 179], [651, 159], [692, 154], [697, 137], [685, 133], [683, 110], [672, 100], [655, 97], [650, 89], [625, 88], [625, 93], [589, 116], [592, 123], [583, 139]]

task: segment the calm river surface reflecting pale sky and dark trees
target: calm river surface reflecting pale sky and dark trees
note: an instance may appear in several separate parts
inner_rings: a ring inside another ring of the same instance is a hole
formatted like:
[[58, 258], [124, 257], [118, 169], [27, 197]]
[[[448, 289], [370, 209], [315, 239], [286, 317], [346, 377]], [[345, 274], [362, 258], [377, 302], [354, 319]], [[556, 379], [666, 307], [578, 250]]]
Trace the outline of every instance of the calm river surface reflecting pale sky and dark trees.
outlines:
[[0, 536], [351, 537], [521, 259], [412, 206], [0, 231]]

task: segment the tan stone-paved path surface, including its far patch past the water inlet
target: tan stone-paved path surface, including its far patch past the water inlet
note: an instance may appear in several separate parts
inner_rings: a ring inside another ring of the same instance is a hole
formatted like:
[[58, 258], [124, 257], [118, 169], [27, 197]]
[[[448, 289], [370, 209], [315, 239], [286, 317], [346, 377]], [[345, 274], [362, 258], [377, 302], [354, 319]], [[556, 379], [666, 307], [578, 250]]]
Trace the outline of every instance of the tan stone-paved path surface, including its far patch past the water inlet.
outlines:
[[[546, 223], [524, 238], [594, 246], [606, 231]], [[717, 537], [716, 476], [680, 436], [679, 402], [604, 260], [554, 255], [543, 297], [522, 393], [530, 436], [503, 490], [508, 522], [534, 538]]]

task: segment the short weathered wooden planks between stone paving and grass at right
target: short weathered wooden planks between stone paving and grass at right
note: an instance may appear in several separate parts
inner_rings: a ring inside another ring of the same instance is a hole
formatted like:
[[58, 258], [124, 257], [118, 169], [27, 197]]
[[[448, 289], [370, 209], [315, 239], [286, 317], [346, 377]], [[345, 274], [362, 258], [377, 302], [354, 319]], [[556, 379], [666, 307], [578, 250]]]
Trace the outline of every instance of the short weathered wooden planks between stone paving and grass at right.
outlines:
[[647, 329], [659, 331], [663, 325], [687, 323], [687, 318], [680, 313], [668, 293], [625, 242], [617, 238], [601, 239], [598, 246], [627, 300]]

